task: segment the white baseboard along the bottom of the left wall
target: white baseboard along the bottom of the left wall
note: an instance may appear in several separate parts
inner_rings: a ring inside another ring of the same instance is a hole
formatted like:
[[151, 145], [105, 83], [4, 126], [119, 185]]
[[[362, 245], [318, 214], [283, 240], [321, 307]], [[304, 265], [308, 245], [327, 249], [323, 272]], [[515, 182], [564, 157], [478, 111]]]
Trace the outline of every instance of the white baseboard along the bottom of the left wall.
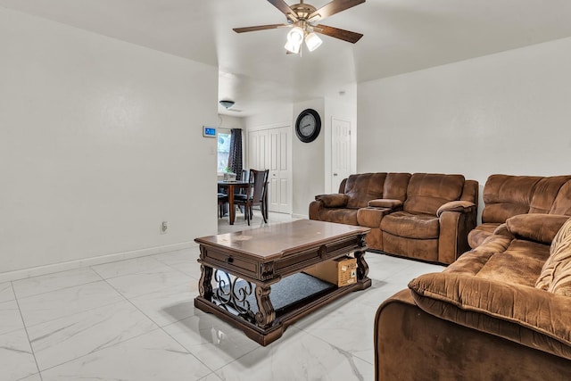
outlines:
[[197, 247], [197, 246], [198, 244], [194, 243], [194, 241], [182, 242], [179, 244], [165, 244], [162, 246], [148, 247], [145, 249], [133, 250], [130, 252], [101, 255], [98, 257], [85, 258], [76, 261], [65, 261], [61, 263], [54, 263], [29, 269], [18, 269], [14, 271], [0, 273], [0, 283], [23, 279], [26, 277], [37, 277], [40, 275], [66, 271], [69, 269], [80, 269], [87, 266], [99, 265], [102, 263], [130, 260], [132, 258], [145, 257], [147, 255], [175, 252], [177, 250], [183, 250], [189, 247]]

